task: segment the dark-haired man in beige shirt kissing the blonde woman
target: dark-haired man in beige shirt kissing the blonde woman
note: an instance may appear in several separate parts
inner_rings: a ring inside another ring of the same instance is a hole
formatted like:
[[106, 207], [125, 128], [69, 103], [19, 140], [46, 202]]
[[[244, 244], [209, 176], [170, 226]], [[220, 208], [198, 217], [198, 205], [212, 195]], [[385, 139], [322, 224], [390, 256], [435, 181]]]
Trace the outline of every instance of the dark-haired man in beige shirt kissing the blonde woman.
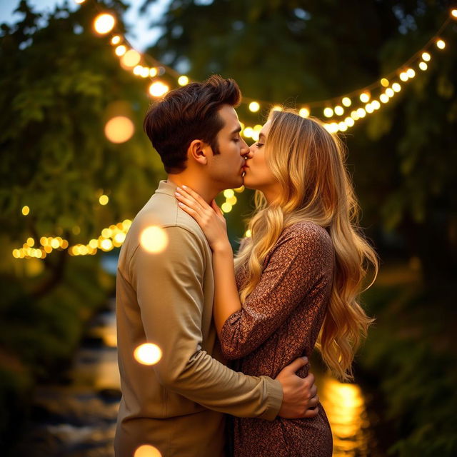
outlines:
[[[122, 399], [117, 457], [139, 446], [162, 457], [224, 456], [224, 414], [272, 421], [313, 417], [318, 397], [313, 375], [295, 372], [302, 358], [276, 379], [245, 376], [221, 356], [212, 321], [211, 249], [199, 224], [177, 205], [185, 184], [211, 202], [243, 184], [249, 149], [233, 106], [235, 81], [211, 76], [167, 94], [146, 114], [144, 128], [168, 174], [134, 219], [119, 256], [116, 283]], [[159, 239], [146, 239], [155, 227]], [[157, 246], [156, 246], [157, 244]], [[152, 246], [149, 246], [152, 245]], [[142, 343], [161, 349], [155, 365], [136, 361]]]

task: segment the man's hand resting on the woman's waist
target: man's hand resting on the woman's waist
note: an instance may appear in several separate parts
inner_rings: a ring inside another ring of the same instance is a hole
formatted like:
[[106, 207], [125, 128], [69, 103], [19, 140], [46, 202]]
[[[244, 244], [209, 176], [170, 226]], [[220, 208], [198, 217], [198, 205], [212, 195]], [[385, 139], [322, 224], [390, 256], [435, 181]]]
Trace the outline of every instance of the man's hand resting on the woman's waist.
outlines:
[[309, 373], [306, 378], [300, 378], [295, 374], [306, 363], [308, 363], [308, 358], [297, 358], [276, 376], [283, 387], [283, 403], [278, 416], [287, 419], [317, 416], [319, 397], [317, 387], [314, 384], [314, 375]]

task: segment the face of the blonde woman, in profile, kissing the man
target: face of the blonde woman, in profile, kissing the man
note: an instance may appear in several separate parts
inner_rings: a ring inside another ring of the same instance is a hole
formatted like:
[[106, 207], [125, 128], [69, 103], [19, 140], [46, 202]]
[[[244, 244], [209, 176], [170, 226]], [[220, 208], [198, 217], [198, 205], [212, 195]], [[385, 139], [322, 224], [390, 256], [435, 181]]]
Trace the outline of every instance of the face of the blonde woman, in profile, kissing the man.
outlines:
[[258, 141], [249, 148], [243, 177], [245, 187], [262, 191], [268, 201], [278, 195], [279, 191], [279, 183], [265, 160], [265, 143], [268, 141], [270, 127], [271, 121], [266, 122], [260, 131]]

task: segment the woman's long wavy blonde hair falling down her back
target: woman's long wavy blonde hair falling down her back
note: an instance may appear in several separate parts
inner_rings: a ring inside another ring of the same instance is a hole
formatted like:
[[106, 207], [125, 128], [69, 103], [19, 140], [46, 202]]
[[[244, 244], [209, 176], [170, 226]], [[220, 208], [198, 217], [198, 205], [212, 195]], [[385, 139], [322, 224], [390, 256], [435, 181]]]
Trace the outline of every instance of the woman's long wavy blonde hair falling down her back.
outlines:
[[318, 119], [289, 109], [272, 111], [268, 119], [265, 159], [282, 192], [267, 204], [256, 191], [256, 209], [248, 222], [251, 238], [235, 258], [236, 271], [246, 262], [248, 266], [241, 302], [256, 287], [263, 261], [283, 229], [298, 221], [327, 229], [336, 255], [330, 304], [316, 347], [333, 374], [348, 380], [353, 378], [354, 353], [373, 322], [358, 296], [370, 266], [373, 281], [368, 287], [374, 282], [378, 260], [358, 229], [358, 203], [344, 164], [345, 148]]

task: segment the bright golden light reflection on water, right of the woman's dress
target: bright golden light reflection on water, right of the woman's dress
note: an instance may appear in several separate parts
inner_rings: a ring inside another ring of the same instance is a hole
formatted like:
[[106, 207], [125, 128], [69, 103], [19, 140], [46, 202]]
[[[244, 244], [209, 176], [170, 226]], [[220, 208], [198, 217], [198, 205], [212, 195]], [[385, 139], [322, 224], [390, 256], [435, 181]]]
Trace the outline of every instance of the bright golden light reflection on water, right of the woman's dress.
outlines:
[[368, 416], [361, 388], [322, 376], [319, 397], [333, 434], [333, 457], [368, 456]]

